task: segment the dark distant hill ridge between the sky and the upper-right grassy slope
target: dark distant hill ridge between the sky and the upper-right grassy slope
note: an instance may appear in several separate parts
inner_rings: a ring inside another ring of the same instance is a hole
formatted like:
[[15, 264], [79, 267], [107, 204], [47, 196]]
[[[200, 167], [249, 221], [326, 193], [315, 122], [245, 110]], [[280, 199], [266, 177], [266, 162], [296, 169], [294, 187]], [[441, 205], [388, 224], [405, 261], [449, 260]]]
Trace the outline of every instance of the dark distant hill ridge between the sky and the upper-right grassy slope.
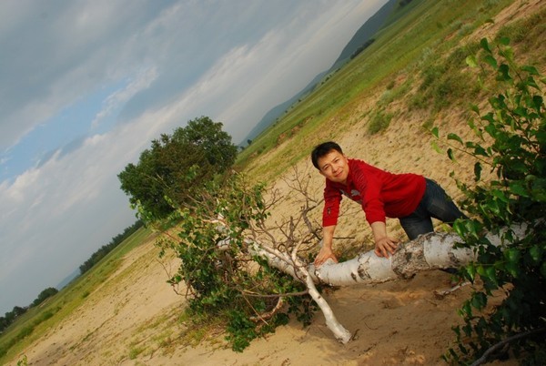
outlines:
[[[402, 0], [404, 1], [404, 0]], [[405, 0], [409, 2], [408, 0]], [[411, 1], [411, 0], [410, 0]], [[265, 130], [269, 125], [275, 122], [278, 117], [281, 117], [284, 112], [288, 110], [290, 106], [298, 101], [300, 97], [303, 97], [313, 91], [315, 86], [317, 86], [329, 73], [337, 70], [339, 67], [343, 66], [348, 62], [355, 53], [358, 52], [359, 48], [369, 42], [372, 39], [372, 36], [375, 35], [383, 25], [385, 25], [386, 20], [389, 18], [389, 15], [392, 13], [394, 6], [399, 2], [399, 0], [389, 0], [389, 2], [383, 5], [376, 14], [369, 17], [369, 19], [360, 26], [359, 30], [355, 33], [354, 36], [349, 40], [347, 46], [343, 48], [338, 59], [334, 62], [330, 68], [319, 75], [315, 76], [313, 80], [305, 86], [298, 94], [294, 97], [289, 98], [286, 102], [279, 104], [271, 108], [268, 113], [262, 117], [258, 124], [250, 130], [247, 137], [239, 143], [240, 147], [245, 147], [248, 145], [248, 140], [253, 140], [258, 137], [258, 135]], [[361, 49], [360, 49], [361, 50]]]

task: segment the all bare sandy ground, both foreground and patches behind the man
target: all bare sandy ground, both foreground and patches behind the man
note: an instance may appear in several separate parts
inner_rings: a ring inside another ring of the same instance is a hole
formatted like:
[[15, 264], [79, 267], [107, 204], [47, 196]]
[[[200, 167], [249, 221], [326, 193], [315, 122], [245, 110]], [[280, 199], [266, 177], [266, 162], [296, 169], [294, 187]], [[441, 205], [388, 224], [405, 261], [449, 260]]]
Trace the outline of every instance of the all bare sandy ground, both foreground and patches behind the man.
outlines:
[[[500, 16], [530, 14], [543, 5], [537, 0], [516, 2]], [[487, 29], [480, 32], [487, 33]], [[363, 100], [355, 116], [372, 108], [382, 91]], [[387, 131], [373, 139], [367, 136], [367, 119], [356, 120], [343, 135], [336, 135], [346, 154], [393, 172], [411, 171], [434, 178], [456, 197], [457, 188], [449, 173], [455, 170], [458, 177], [470, 179], [470, 162], [461, 161], [454, 166], [446, 157], [434, 153], [430, 135], [419, 132], [423, 118], [404, 111], [396, 102], [391, 107], [400, 107], [399, 114]], [[450, 111], [436, 120], [441, 121], [440, 128], [465, 135], [463, 112]], [[332, 128], [335, 122], [330, 124]], [[297, 168], [308, 179], [310, 192], [320, 198], [323, 178], [308, 161], [299, 163]], [[287, 172], [285, 178], [289, 180], [293, 174]], [[288, 187], [287, 180], [278, 179], [274, 187], [285, 201], [273, 210], [271, 219], [281, 221], [298, 212], [300, 198]], [[338, 240], [336, 250], [342, 252], [347, 246], [370, 249], [368, 225], [358, 206], [344, 203], [343, 209], [349, 212], [340, 219], [338, 234], [353, 239]], [[319, 220], [319, 210], [311, 217]], [[389, 232], [403, 239], [396, 220], [389, 221]], [[339, 321], [356, 334], [354, 341], [347, 345], [335, 341], [319, 312], [308, 328], [292, 322], [267, 338], [252, 342], [243, 353], [235, 353], [225, 347], [221, 334], [216, 341], [197, 346], [180, 337], [184, 326], [178, 317], [185, 300], [166, 283], [167, 272], [176, 271], [177, 259], [159, 262], [157, 252], [153, 241], [130, 252], [122, 268], [89, 294], [83, 307], [21, 356], [25, 354], [31, 365], [442, 364], [440, 356], [454, 340], [451, 326], [460, 322], [457, 309], [471, 290], [467, 286], [437, 298], [434, 290], [446, 289], [450, 282], [450, 275], [441, 271], [423, 272], [411, 280], [329, 290], [325, 298]]]

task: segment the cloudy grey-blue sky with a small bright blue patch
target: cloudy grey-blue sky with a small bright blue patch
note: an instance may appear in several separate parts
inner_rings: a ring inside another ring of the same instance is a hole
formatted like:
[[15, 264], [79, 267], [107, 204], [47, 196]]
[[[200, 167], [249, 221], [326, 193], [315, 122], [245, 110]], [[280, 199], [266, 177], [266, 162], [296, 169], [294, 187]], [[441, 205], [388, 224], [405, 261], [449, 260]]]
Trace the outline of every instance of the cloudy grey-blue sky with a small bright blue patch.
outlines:
[[243, 141], [387, 0], [2, 0], [0, 316], [136, 221], [117, 174], [207, 116]]

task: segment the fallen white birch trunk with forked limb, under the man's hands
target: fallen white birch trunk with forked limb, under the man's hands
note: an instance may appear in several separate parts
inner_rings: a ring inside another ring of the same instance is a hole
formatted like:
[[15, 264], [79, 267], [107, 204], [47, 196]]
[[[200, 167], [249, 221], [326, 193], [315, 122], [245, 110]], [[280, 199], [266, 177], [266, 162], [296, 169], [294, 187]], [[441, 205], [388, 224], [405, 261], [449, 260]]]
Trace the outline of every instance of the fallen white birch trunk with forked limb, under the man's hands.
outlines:
[[[521, 238], [527, 226], [520, 225], [511, 229], [514, 238]], [[501, 231], [498, 235], [488, 234], [486, 238], [492, 245], [500, 246], [502, 233]], [[472, 249], [453, 248], [461, 241], [460, 236], [455, 233], [431, 232], [399, 245], [388, 259], [378, 257], [370, 250], [341, 263], [334, 263], [329, 259], [319, 268], [313, 264], [304, 265], [297, 259], [295, 252], [289, 256], [278, 249], [265, 248], [251, 239], [247, 239], [246, 243], [251, 254], [267, 259], [270, 266], [306, 284], [309, 294], [324, 313], [329, 330], [334, 333], [336, 339], [345, 344], [351, 339], [349, 330], [336, 320], [328, 303], [316, 290], [315, 284], [350, 286], [357, 283], [380, 283], [410, 278], [423, 270], [459, 268], [476, 259]]]

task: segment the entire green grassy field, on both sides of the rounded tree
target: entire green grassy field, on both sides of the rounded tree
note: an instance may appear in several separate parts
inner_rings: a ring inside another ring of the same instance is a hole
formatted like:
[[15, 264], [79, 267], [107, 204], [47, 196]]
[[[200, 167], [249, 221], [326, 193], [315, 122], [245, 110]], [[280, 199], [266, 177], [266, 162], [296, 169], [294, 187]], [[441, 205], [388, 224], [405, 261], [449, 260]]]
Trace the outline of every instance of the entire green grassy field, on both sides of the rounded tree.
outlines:
[[[446, 108], [467, 108], [480, 100], [465, 72], [465, 58], [477, 49], [473, 33], [512, 0], [414, 0], [399, 7], [376, 41], [268, 127], [239, 154], [237, 167], [251, 178], [274, 182], [290, 166], [308, 158], [319, 142], [336, 139], [354, 124], [365, 123], [372, 137], [407, 111], [420, 113], [430, 128]], [[496, 35], [509, 36], [524, 60], [544, 71], [546, 12], [502, 26]], [[372, 161], [373, 162], [373, 161]], [[0, 336], [0, 364], [43, 337], [104, 284], [152, 233], [139, 229], [102, 259], [95, 268], [33, 308]]]

